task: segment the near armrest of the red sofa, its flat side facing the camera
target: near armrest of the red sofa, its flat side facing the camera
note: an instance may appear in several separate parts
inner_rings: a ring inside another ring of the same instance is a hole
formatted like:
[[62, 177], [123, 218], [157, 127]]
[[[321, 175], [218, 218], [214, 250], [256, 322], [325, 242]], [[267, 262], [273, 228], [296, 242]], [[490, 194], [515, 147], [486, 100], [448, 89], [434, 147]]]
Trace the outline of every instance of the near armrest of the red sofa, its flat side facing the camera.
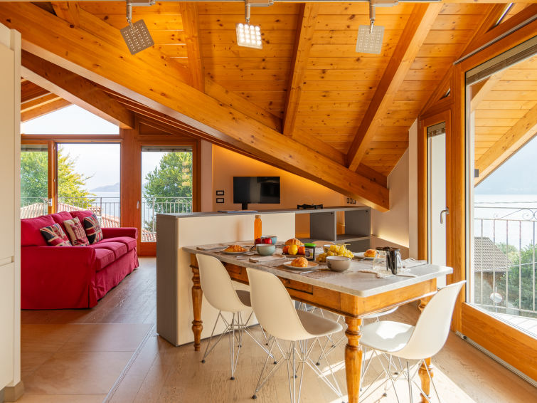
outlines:
[[[95, 306], [95, 249], [89, 246], [23, 246], [21, 308]], [[89, 298], [89, 300], [88, 300]]]

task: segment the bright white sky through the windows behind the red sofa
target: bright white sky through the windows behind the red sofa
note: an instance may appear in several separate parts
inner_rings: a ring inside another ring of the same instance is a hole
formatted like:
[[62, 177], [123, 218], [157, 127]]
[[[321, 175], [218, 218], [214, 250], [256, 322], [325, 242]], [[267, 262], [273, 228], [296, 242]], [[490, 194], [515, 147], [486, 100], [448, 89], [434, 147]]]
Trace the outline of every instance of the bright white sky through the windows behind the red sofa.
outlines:
[[[119, 135], [119, 127], [76, 105], [70, 105], [21, 123], [21, 133]], [[88, 190], [119, 182], [119, 144], [63, 143], [62, 147], [65, 152], [76, 159], [76, 171], [90, 177], [86, 181]], [[164, 154], [166, 152], [143, 153], [142, 177], [156, 167]]]

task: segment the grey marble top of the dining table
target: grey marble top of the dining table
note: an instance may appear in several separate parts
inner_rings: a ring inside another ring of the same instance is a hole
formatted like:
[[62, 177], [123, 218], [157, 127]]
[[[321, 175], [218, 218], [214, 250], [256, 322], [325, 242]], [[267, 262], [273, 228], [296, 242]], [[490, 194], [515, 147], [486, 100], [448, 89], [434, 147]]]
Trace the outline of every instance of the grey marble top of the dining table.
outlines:
[[[238, 244], [244, 243], [238, 242]], [[244, 246], [248, 246], [248, 244], [245, 244]], [[293, 270], [283, 265], [285, 262], [292, 261], [295, 256], [285, 256], [285, 259], [255, 263], [250, 261], [250, 258], [260, 257], [257, 253], [251, 255], [230, 255], [223, 253], [221, 248], [201, 250], [200, 247], [203, 247], [203, 245], [184, 246], [182, 249], [187, 253], [201, 253], [204, 255], [215, 256], [225, 263], [265, 270], [282, 278], [289, 278], [289, 280], [300, 281], [302, 283], [311, 284], [312, 286], [356, 295], [357, 297], [362, 298], [411, 286], [453, 272], [453, 269], [450, 267], [422, 264], [420, 266], [412, 267], [405, 272], [413, 273], [415, 277], [389, 276], [386, 278], [377, 278], [375, 273], [363, 273], [360, 271], [373, 269], [373, 262], [371, 260], [360, 260], [357, 258], [353, 258], [351, 267], [343, 273], [336, 273], [328, 270], [326, 263], [319, 263], [319, 266], [317, 267], [319, 270], [314, 272], [311, 270], [317, 268], [307, 268], [301, 271]], [[282, 250], [277, 248], [275, 254], [277, 253], [282, 253]]]

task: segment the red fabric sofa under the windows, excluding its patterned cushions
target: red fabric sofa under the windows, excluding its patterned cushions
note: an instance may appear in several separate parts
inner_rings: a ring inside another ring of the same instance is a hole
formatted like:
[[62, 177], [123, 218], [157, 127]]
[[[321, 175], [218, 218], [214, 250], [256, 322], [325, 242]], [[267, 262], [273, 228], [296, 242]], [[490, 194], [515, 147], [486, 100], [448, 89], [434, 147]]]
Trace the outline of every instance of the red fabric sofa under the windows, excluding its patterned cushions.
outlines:
[[136, 228], [103, 228], [90, 246], [48, 246], [39, 231], [91, 211], [21, 220], [21, 308], [91, 308], [138, 267]]

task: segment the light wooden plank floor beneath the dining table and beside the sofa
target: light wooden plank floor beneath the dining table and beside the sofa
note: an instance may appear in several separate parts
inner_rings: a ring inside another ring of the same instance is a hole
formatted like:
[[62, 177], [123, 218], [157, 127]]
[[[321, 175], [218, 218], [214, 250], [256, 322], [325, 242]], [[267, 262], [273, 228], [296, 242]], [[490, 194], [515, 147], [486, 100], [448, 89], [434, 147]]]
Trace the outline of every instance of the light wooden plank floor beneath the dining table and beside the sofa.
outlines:
[[[23, 311], [23, 324], [68, 323], [150, 323], [155, 322], [155, 260], [141, 258], [141, 266], [105, 298], [97, 307], [88, 310]], [[392, 320], [415, 323], [418, 310], [415, 305], [400, 308], [390, 315]], [[211, 324], [205, 324], [211, 325]], [[258, 328], [253, 332], [259, 335]], [[202, 350], [206, 341], [202, 342]], [[336, 380], [345, 390], [342, 343], [329, 355]], [[235, 380], [229, 380], [228, 340], [216, 347], [206, 363], [201, 363], [203, 352], [194, 352], [192, 345], [173, 347], [155, 334], [154, 326], [149, 337], [139, 345], [122, 375], [104, 397], [115, 403], [167, 403], [167, 402], [253, 402], [251, 399], [262, 367], [264, 353], [248, 337], [243, 342]], [[31, 360], [30, 354], [25, 354]], [[373, 363], [376, 363], [373, 361]], [[442, 402], [534, 402], [537, 389], [491, 360], [456, 335], [450, 335], [444, 349], [433, 359], [435, 382]], [[24, 363], [23, 363], [24, 365]], [[102, 365], [102, 364], [101, 364]], [[327, 370], [321, 362], [321, 368]], [[378, 366], [368, 371], [365, 384], [376, 377]], [[55, 382], [62, 384], [62, 379]], [[396, 386], [400, 402], [408, 402], [405, 382]], [[364, 402], [397, 402], [392, 390], [383, 397], [383, 389]], [[67, 400], [73, 403], [97, 402], [80, 395]], [[289, 402], [287, 371], [281, 367], [257, 394], [256, 402]], [[418, 392], [414, 392], [418, 402]], [[28, 402], [54, 402], [31, 399]], [[63, 400], [62, 400], [63, 401]], [[67, 402], [66, 401], [66, 402]], [[321, 382], [314, 372], [304, 373], [302, 402], [341, 402], [341, 399]], [[60, 400], [58, 400], [60, 402]]]

